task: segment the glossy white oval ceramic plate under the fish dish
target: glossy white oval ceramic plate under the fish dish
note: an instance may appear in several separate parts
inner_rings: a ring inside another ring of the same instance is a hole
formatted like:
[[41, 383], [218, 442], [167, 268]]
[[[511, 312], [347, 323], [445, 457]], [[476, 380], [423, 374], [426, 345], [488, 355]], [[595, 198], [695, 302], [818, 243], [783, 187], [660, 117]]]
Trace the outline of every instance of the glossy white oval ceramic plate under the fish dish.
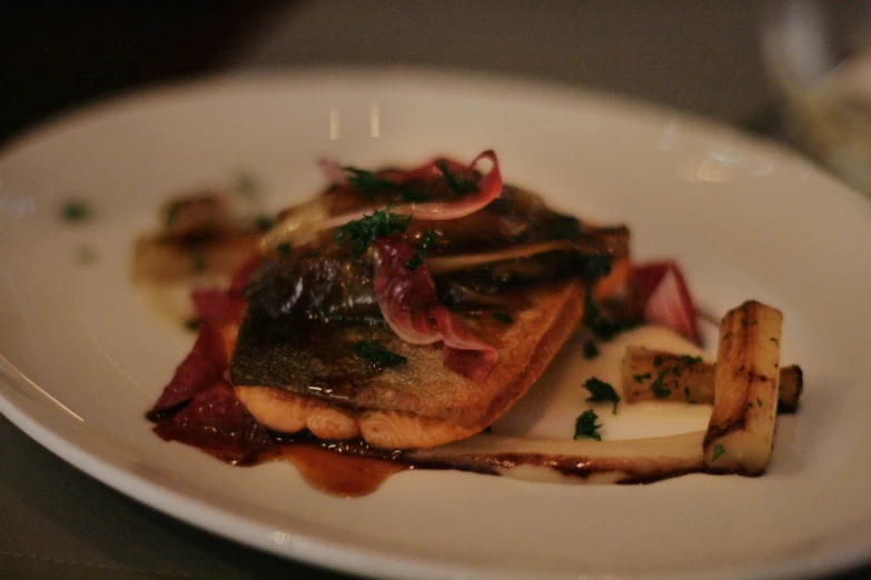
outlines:
[[[406, 472], [347, 500], [287, 464], [232, 468], [150, 432], [143, 411], [191, 342], [128, 281], [162, 199], [246, 171], [277, 209], [320, 184], [320, 154], [375, 166], [491, 147], [511, 181], [628, 223], [641, 258], [677, 258], [707, 309], [783, 310], [784, 361], [808, 387], [768, 474], [568, 487]], [[808, 578], [871, 553], [871, 204], [791, 153], [563, 89], [307, 72], [92, 107], [9, 144], [0, 179], [0, 411], [160, 511], [392, 578]], [[95, 219], [61, 221], [70, 198]], [[78, 263], [82, 247], [97, 260]]]

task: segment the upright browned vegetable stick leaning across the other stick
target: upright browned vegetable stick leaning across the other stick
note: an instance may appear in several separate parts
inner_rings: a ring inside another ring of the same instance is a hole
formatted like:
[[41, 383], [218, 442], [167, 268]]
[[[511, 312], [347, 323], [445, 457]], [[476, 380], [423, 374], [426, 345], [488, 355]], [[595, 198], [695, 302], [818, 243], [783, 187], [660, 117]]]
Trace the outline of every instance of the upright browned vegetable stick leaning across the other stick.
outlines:
[[720, 326], [714, 408], [704, 438], [710, 472], [760, 476], [771, 457], [780, 382], [783, 314], [756, 301]]

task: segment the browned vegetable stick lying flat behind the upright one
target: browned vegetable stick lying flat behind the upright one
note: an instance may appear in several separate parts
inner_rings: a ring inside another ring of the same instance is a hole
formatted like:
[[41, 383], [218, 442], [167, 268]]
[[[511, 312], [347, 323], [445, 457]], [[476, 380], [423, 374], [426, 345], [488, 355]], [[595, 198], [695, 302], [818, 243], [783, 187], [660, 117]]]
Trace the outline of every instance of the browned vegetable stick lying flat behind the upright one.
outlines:
[[[802, 388], [801, 368], [782, 368], [778, 412], [795, 412]], [[714, 364], [700, 357], [627, 347], [623, 357], [623, 397], [630, 404], [652, 400], [712, 404]]]

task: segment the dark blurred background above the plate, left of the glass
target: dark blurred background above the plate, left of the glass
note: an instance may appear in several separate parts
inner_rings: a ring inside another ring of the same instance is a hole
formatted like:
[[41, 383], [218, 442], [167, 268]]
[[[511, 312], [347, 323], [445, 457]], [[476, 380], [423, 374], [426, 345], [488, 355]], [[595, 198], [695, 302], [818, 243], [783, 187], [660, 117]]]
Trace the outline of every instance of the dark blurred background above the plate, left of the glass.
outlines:
[[8, 2], [0, 136], [118, 91], [266, 67], [414, 66], [614, 91], [741, 122], [771, 99], [759, 2]]

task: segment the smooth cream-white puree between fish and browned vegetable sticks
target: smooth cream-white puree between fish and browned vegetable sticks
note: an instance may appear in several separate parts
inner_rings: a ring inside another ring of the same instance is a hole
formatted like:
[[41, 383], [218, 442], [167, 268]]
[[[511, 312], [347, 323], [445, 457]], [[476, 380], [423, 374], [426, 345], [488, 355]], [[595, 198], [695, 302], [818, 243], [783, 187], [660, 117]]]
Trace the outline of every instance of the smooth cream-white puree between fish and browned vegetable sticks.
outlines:
[[570, 340], [538, 382], [505, 416], [493, 426], [493, 432], [534, 439], [572, 439], [575, 419], [594, 409], [603, 440], [635, 439], [704, 431], [711, 416], [710, 404], [645, 401], [627, 404], [621, 400], [617, 414], [613, 403], [591, 403], [584, 382], [591, 377], [611, 383], [623, 396], [621, 363], [627, 346], [703, 356], [693, 344], [661, 327], [641, 327], [624, 332], [610, 342], [598, 344], [600, 354], [587, 360], [583, 340]]

